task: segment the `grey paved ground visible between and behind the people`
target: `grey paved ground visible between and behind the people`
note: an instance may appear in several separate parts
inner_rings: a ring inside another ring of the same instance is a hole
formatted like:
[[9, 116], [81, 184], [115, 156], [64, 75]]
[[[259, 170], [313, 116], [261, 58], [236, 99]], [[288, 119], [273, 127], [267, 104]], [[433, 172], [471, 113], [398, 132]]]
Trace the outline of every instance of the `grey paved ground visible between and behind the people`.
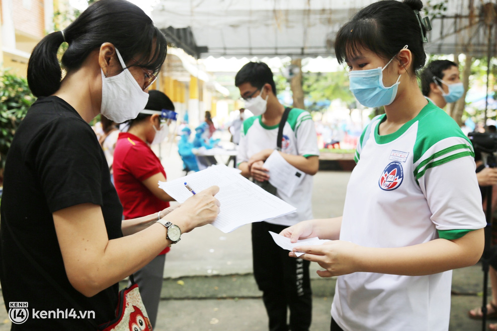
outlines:
[[[161, 151], [169, 179], [182, 175], [174, 147]], [[226, 160], [222, 160], [226, 161]], [[349, 172], [320, 171], [314, 177], [314, 216], [342, 212]], [[167, 254], [165, 281], [155, 330], [267, 330], [264, 306], [252, 276], [250, 226], [225, 234], [205, 226], [184, 234]], [[335, 280], [319, 278], [312, 264], [314, 292], [312, 331], [329, 330]], [[481, 330], [467, 311], [481, 305], [483, 273], [479, 265], [454, 271], [451, 331]], [[3, 300], [0, 300], [3, 306]], [[497, 322], [497, 321], [496, 321]], [[6, 310], [0, 307], [0, 331], [9, 330]]]

